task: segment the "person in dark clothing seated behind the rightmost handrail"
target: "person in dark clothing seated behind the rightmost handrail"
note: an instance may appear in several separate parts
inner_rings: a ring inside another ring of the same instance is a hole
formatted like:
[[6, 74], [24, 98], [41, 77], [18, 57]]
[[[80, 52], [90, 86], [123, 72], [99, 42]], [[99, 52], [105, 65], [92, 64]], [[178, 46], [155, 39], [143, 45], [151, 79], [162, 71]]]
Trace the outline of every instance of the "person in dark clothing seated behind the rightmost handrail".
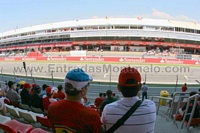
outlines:
[[[190, 96], [193, 96], [197, 94], [196, 91], [192, 91], [190, 92]], [[188, 122], [189, 118], [190, 118], [190, 113], [192, 112], [192, 109], [193, 109], [193, 106], [194, 106], [194, 99], [190, 100], [190, 103], [189, 103], [189, 108], [188, 108], [188, 111], [187, 111], [187, 116], [185, 118], [185, 120]], [[187, 107], [187, 103], [184, 105], [183, 108], [180, 108], [179, 109], [179, 113], [184, 116], [184, 113], [185, 113], [185, 110], [186, 110], [186, 107]], [[198, 109], [198, 105], [196, 106], [195, 108], [195, 111], [194, 111], [194, 115], [193, 115], [193, 118], [199, 118], [199, 109]]]

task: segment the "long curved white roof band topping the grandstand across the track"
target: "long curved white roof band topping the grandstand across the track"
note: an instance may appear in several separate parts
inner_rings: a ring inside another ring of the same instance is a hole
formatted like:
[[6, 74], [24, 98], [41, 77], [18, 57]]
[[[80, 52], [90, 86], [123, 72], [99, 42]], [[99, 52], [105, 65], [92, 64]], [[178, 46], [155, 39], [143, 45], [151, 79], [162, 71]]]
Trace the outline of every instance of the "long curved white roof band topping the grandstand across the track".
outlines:
[[188, 29], [200, 30], [200, 24], [195, 22], [181, 22], [163, 19], [147, 19], [147, 18], [100, 18], [100, 19], [84, 19], [72, 20], [65, 22], [55, 22], [42, 25], [29, 26], [25, 28], [14, 29], [11, 31], [0, 33], [0, 37], [13, 34], [20, 34], [39, 30], [66, 28], [66, 27], [81, 27], [81, 26], [105, 26], [105, 25], [138, 25], [138, 26], [160, 26], [160, 27], [181, 27]]

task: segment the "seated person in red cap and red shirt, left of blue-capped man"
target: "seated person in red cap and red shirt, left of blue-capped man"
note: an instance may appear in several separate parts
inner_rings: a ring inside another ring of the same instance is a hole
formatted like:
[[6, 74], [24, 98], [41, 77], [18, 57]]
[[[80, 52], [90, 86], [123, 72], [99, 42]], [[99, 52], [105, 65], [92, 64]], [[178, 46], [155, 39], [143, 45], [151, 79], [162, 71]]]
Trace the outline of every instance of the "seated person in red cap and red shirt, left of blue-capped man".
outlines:
[[46, 88], [46, 94], [47, 96], [42, 99], [44, 110], [48, 110], [52, 102], [57, 102], [57, 100], [53, 98], [54, 90], [51, 86]]

